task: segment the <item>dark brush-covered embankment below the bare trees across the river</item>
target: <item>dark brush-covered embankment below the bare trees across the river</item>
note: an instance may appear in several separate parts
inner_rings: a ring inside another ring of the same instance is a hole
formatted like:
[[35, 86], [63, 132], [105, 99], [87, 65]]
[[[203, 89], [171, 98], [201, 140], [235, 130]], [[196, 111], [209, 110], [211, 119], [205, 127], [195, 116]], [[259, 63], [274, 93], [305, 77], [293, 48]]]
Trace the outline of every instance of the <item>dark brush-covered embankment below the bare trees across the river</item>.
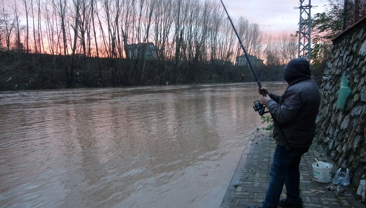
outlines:
[[[4, 80], [0, 90], [67, 88], [65, 71], [71, 61], [75, 69], [71, 85], [76, 88], [254, 81], [248, 67], [206, 62], [182, 62], [176, 68], [174, 62], [146, 61], [142, 76], [131, 70], [135, 63], [130, 59], [85, 56], [72, 59], [70, 56], [13, 51], [1, 51], [0, 59], [4, 68], [11, 68], [0, 74]], [[256, 70], [261, 81], [283, 81], [282, 66], [262, 66]]]

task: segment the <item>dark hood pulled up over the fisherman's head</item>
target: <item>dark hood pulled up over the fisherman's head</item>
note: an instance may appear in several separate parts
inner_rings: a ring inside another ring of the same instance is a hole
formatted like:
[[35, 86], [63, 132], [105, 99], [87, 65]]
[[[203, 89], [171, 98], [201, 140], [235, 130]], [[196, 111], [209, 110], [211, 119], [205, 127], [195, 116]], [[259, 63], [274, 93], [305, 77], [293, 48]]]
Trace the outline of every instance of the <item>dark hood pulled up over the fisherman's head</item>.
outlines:
[[311, 79], [310, 63], [304, 58], [292, 59], [283, 69], [283, 78], [289, 86]]

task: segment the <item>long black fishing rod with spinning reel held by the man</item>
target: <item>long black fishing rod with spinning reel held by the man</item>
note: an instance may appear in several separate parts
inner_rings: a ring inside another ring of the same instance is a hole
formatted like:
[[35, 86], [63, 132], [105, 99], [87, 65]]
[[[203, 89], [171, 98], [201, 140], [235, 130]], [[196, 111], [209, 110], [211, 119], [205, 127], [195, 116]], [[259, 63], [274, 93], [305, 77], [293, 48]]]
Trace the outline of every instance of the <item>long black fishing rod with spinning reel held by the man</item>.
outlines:
[[[245, 55], [245, 57], [246, 57], [246, 59], [247, 59], [247, 61], [248, 61], [248, 63], [249, 63], [249, 67], [250, 67], [250, 70], [251, 70], [251, 72], [252, 72], [252, 74], [253, 74], [253, 77], [254, 77], [255, 81], [257, 82], [257, 84], [258, 84], [258, 86], [259, 86], [259, 89], [261, 89], [261, 88], [262, 88], [261, 81], [259, 81], [259, 78], [258, 78], [257, 72], [254, 70], [253, 64], [251, 63], [251, 61], [250, 61], [250, 59], [249, 59], [249, 56], [248, 56], [248, 53], [247, 53], [247, 51], [246, 51], [246, 50], [245, 50], [245, 48], [244, 48], [244, 45], [243, 45], [242, 39], [240, 38], [240, 36], [239, 36], [239, 34], [238, 34], [238, 31], [236, 31], [236, 28], [235, 28], [235, 26], [234, 26], [234, 23], [232, 22], [232, 20], [231, 20], [231, 18], [230, 18], [229, 13], [228, 13], [228, 11], [226, 10], [226, 7], [225, 7], [225, 5], [224, 5], [224, 2], [223, 2], [222, 0], [220, 0], [220, 1], [221, 1], [221, 4], [223, 4], [223, 7], [224, 7], [224, 10], [225, 10], [226, 14], [228, 15], [228, 19], [229, 19], [229, 21], [230, 21], [230, 23], [231, 23], [232, 28], [233, 28], [233, 29], [234, 29], [234, 31], [235, 31], [236, 37], [238, 37], [238, 40], [239, 40], [239, 43], [240, 43], [240, 47], [242, 47], [242, 49], [243, 49], [243, 51], [244, 51], [244, 55]], [[264, 92], [264, 90], [261, 90], [261, 91], [262, 91], [262, 96], [263, 96], [263, 97], [267, 97], [267, 94]], [[261, 116], [262, 116], [262, 115], [264, 115], [265, 113], [268, 113], [268, 112], [269, 112], [269, 111], [265, 111], [265, 106], [263, 106], [263, 105], [260, 103], [260, 101], [259, 101], [259, 100], [257, 100], [257, 101], [255, 101], [255, 102], [254, 102], [253, 108], [254, 108], [254, 110], [255, 110], [255, 111], [258, 111], [259, 115], [261, 115]], [[280, 134], [281, 134], [281, 136], [282, 136], [282, 138], [283, 138], [284, 146], [285, 146], [286, 150], [288, 150], [288, 149], [289, 149], [289, 147], [288, 147], [288, 143], [287, 143], [287, 140], [286, 140], [285, 134], [283, 133], [283, 131], [282, 131], [282, 130], [281, 130], [281, 128], [280, 128], [279, 123], [277, 122], [277, 120], [276, 120], [275, 118], [273, 118], [273, 116], [272, 116], [272, 119], [273, 119], [273, 123], [274, 123], [274, 125], [278, 126], [278, 129], [279, 129], [279, 131], [280, 131]]]

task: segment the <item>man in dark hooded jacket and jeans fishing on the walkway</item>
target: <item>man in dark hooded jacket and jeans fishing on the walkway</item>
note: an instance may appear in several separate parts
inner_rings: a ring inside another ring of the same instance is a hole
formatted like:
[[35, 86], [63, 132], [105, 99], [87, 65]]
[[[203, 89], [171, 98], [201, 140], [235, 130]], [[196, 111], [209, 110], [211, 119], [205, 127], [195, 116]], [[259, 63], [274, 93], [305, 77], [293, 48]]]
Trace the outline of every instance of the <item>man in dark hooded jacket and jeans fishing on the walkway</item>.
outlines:
[[[282, 96], [270, 93], [266, 88], [258, 90], [261, 95], [263, 92], [267, 94], [268, 97], [262, 97], [260, 103], [277, 120], [273, 130], [277, 146], [262, 208], [278, 205], [284, 208], [303, 207], [299, 164], [315, 136], [315, 119], [320, 106], [319, 88], [311, 79], [310, 63], [306, 59], [297, 58], [288, 62], [283, 69], [283, 77], [288, 87]], [[280, 200], [283, 185], [286, 186], [287, 197]], [[257, 207], [249, 205], [248, 208]]]

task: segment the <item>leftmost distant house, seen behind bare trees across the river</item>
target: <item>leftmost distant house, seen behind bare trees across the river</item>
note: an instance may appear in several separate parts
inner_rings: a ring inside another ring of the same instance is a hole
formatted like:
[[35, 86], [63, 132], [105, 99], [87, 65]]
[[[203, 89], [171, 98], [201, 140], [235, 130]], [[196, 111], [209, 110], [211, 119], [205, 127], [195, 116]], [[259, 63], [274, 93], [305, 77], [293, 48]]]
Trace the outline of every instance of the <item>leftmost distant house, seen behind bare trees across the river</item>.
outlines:
[[157, 47], [152, 42], [127, 45], [127, 53], [130, 59], [141, 58], [145, 53], [146, 60], [156, 59]]

